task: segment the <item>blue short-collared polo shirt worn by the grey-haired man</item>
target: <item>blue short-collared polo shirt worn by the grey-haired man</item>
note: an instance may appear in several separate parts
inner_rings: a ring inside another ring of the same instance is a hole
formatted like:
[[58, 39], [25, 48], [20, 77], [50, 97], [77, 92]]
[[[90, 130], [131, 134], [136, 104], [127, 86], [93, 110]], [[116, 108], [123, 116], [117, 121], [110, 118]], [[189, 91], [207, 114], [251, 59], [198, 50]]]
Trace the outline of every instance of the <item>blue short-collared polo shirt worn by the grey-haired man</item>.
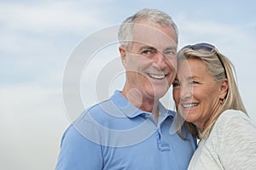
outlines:
[[159, 104], [156, 123], [116, 91], [90, 107], [67, 128], [61, 139], [56, 170], [174, 170], [187, 169], [195, 139], [183, 129], [181, 139], [175, 112]]

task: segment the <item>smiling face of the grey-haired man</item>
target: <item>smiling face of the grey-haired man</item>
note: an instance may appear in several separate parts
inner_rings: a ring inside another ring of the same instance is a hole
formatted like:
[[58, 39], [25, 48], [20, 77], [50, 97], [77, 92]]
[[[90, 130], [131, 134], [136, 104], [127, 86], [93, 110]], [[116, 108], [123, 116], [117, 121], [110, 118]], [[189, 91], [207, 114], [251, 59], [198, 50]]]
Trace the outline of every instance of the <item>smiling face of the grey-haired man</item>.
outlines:
[[171, 26], [134, 26], [131, 48], [122, 57], [129, 89], [137, 89], [143, 99], [166, 94], [177, 67], [176, 39]]

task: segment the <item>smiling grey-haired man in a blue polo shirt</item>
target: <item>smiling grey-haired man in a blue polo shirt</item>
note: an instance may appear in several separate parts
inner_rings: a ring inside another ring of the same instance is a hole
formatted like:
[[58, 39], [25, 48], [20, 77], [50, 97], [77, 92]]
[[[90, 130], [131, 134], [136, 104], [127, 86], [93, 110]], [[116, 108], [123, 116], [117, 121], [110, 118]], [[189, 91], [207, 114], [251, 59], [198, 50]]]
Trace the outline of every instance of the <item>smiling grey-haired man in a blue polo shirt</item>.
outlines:
[[125, 86], [68, 127], [56, 169], [187, 169], [195, 140], [171, 131], [175, 112], [159, 102], [176, 74], [176, 25], [143, 9], [119, 27], [119, 42]]

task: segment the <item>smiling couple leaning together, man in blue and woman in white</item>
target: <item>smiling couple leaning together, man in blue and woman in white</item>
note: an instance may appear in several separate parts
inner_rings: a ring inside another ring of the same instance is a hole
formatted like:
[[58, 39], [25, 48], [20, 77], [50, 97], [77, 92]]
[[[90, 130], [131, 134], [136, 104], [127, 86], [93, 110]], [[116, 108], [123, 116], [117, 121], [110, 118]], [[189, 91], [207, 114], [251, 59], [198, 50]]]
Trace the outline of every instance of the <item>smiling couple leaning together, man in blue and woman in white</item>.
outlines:
[[[55, 169], [255, 169], [256, 127], [233, 65], [209, 43], [177, 53], [177, 26], [142, 9], [119, 27], [125, 86], [67, 128]], [[177, 111], [160, 104], [172, 85]]]

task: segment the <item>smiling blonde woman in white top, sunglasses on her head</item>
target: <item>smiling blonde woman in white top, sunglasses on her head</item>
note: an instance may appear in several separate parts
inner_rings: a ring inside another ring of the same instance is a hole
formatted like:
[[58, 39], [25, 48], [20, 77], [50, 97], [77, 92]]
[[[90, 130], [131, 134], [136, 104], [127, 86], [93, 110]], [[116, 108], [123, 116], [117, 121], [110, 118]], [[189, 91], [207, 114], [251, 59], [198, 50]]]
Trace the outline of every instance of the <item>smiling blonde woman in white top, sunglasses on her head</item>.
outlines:
[[189, 169], [256, 169], [256, 127], [232, 68], [208, 43], [186, 46], [177, 54], [173, 99], [184, 126], [199, 139]]

